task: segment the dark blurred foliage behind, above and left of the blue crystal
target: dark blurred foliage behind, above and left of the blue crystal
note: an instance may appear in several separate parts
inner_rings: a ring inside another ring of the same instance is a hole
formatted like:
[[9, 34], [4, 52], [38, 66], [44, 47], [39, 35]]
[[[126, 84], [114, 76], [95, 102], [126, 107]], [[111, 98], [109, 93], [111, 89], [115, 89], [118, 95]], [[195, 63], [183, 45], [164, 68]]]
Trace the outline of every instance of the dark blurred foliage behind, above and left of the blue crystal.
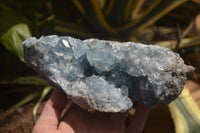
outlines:
[[22, 42], [32, 35], [194, 47], [200, 44], [192, 33], [199, 9], [191, 0], [1, 0], [0, 100], [15, 97], [1, 107], [15, 109], [40, 97], [39, 104], [52, 90], [24, 63]]

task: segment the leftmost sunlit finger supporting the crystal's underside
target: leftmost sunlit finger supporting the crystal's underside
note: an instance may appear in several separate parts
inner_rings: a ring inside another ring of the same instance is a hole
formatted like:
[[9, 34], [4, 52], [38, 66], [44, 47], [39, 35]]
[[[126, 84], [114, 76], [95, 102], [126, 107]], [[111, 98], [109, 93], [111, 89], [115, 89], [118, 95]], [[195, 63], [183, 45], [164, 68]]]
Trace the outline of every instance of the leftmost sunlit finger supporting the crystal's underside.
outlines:
[[42, 114], [39, 117], [34, 129], [57, 129], [59, 117], [66, 103], [66, 94], [61, 89], [55, 88], [50, 99], [44, 106]]

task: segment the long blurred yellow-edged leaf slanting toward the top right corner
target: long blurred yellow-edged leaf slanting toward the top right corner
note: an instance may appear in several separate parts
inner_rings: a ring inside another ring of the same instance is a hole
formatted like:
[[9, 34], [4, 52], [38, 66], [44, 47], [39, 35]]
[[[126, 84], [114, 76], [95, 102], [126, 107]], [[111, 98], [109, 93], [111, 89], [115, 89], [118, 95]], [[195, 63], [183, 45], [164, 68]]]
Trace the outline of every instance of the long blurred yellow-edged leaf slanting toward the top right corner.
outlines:
[[135, 32], [135, 30], [141, 31], [186, 1], [187, 0], [155, 0], [152, 6], [147, 9], [138, 20], [127, 23], [119, 28], [119, 30], [122, 34], [130, 34], [133, 31]]

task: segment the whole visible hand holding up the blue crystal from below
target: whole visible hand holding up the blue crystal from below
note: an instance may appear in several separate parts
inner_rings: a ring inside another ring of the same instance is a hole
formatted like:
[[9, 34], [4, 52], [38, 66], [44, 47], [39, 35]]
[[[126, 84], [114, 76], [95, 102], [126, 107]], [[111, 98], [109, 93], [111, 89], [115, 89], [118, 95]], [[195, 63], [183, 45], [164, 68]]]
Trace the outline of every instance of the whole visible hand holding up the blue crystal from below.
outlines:
[[[66, 95], [60, 89], [54, 89], [32, 133], [120, 133], [127, 113], [88, 112], [72, 104], [62, 118], [67, 103]], [[141, 133], [149, 109], [138, 104], [125, 133]]]

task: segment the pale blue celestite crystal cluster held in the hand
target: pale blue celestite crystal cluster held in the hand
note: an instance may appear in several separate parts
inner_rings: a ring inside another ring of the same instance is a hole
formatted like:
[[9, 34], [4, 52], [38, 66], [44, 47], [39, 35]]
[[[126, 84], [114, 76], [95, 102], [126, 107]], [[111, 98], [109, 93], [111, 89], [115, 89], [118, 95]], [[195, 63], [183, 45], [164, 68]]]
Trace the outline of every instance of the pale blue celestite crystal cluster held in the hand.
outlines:
[[31, 37], [23, 46], [28, 66], [82, 108], [102, 112], [124, 112], [131, 99], [150, 108], [170, 103], [194, 70], [155, 45], [52, 35]]

